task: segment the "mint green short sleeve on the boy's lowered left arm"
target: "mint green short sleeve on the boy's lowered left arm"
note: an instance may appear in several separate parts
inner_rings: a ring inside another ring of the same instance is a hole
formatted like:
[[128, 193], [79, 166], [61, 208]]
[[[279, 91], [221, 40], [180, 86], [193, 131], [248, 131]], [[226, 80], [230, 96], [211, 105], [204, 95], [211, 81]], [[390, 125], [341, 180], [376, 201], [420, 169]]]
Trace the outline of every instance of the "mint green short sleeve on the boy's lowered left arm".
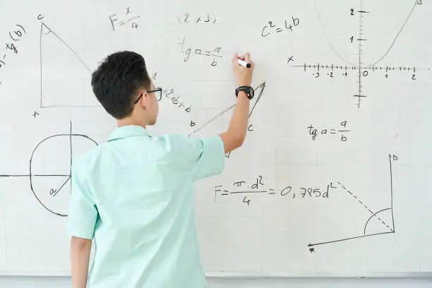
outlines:
[[68, 213], [68, 233], [83, 239], [92, 239], [97, 220], [97, 208], [90, 191], [83, 187], [83, 179], [72, 169], [71, 203]]

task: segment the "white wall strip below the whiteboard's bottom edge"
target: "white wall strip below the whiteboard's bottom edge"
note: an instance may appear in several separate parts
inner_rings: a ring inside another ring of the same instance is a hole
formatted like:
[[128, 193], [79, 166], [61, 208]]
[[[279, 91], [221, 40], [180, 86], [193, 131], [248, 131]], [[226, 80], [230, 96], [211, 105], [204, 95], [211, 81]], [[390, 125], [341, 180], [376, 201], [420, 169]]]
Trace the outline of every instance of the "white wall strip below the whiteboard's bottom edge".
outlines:
[[[211, 288], [430, 288], [430, 278], [416, 279], [210, 279]], [[1, 288], [70, 288], [69, 277], [0, 277]]]

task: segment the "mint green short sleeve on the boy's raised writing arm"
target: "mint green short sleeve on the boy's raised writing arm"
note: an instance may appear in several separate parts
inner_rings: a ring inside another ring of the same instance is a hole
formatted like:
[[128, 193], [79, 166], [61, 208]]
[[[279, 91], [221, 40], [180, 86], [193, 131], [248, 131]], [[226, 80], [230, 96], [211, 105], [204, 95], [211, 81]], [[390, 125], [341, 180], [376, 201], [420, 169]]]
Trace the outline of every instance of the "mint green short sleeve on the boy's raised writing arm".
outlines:
[[191, 167], [193, 179], [203, 179], [222, 173], [225, 164], [224, 143], [220, 136], [181, 138], [179, 147], [186, 166]]

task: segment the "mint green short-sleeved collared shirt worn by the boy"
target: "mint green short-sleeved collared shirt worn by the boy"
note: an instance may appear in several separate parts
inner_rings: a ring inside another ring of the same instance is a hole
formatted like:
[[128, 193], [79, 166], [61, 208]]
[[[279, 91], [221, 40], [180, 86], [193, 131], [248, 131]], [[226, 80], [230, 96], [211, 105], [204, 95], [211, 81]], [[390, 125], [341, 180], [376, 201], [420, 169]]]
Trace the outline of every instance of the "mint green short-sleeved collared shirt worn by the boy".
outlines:
[[224, 168], [220, 136], [152, 137], [116, 128], [74, 160], [68, 232], [95, 238], [90, 288], [207, 287], [193, 182]]

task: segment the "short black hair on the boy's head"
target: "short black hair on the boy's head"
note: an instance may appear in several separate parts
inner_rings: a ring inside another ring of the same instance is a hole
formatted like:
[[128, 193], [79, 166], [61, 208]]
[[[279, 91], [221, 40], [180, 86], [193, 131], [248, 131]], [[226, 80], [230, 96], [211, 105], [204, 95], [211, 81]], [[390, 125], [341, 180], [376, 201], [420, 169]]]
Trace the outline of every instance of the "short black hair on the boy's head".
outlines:
[[135, 92], [149, 88], [150, 82], [143, 56], [130, 51], [110, 54], [92, 73], [97, 100], [116, 119], [131, 114]]

